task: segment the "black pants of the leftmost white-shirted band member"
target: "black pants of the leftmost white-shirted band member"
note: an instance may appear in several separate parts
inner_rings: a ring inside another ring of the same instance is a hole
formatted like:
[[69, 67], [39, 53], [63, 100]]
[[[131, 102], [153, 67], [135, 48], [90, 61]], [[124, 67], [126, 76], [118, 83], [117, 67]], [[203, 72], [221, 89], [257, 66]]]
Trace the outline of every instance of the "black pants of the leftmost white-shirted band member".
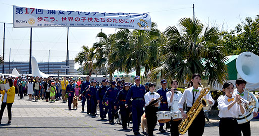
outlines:
[[157, 111], [158, 108], [154, 106], [147, 106], [145, 108], [148, 135], [153, 135], [154, 127], [156, 127], [158, 119], [156, 115]]

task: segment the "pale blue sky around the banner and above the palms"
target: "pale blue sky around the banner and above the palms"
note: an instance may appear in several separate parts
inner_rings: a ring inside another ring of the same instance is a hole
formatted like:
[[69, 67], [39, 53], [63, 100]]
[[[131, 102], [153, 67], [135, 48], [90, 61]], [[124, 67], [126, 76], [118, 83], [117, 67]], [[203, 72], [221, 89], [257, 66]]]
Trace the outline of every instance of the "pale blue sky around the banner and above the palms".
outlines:
[[[231, 30], [246, 17], [253, 19], [259, 14], [259, 1], [68, 1], [68, 0], [27, 0], [27, 1], [1, 1], [0, 22], [13, 22], [12, 5], [21, 7], [71, 10], [85, 12], [150, 12], [152, 21], [164, 31], [168, 26], [178, 25], [183, 17], [193, 16], [192, 4], [195, 4], [195, 17], [201, 23], [209, 26], [218, 26], [219, 29]], [[107, 34], [115, 33], [115, 28], [103, 28]], [[70, 28], [69, 31], [69, 59], [81, 51], [81, 46], [91, 47], [98, 39], [100, 28]], [[37, 61], [66, 60], [67, 28], [33, 28], [32, 55]], [[3, 24], [0, 24], [0, 54], [3, 54]], [[11, 48], [11, 61], [29, 61], [30, 28], [13, 28], [6, 24], [5, 32], [5, 61], [9, 61], [9, 48]]]

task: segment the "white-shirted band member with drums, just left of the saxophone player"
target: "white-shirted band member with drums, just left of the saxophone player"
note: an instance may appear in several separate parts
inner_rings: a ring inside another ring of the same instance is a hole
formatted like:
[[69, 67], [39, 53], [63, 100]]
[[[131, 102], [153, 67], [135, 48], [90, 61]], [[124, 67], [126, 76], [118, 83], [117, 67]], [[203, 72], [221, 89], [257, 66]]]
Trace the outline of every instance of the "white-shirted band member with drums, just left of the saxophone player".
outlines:
[[[171, 111], [171, 107], [173, 106], [173, 111], [178, 111], [178, 102], [182, 96], [182, 92], [177, 91], [178, 82], [176, 80], [171, 81], [171, 90], [167, 92], [167, 102], [169, 106], [169, 111]], [[171, 135], [179, 135], [178, 126], [181, 123], [181, 120], [170, 121], [170, 133]]]

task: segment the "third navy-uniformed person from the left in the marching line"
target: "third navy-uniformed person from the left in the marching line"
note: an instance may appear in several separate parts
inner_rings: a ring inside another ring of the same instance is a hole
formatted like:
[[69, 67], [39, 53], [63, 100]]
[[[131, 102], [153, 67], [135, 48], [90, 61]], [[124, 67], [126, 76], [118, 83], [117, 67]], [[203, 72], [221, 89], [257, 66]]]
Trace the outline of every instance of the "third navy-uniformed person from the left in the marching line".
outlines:
[[89, 100], [91, 101], [91, 116], [96, 116], [96, 108], [97, 108], [97, 99], [96, 94], [97, 90], [99, 89], [97, 86], [97, 81], [93, 81], [93, 86], [89, 88], [89, 94], [91, 95], [89, 97]]

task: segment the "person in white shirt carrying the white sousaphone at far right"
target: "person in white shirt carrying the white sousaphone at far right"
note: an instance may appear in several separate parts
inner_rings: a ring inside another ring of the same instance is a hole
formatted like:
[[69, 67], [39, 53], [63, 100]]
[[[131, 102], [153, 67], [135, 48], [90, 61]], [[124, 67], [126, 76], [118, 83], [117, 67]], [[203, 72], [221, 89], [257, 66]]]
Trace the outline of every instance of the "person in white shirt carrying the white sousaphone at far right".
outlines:
[[[247, 91], [244, 91], [246, 86], [246, 81], [242, 78], [238, 78], [236, 80], [236, 89], [234, 90], [234, 95], [239, 94], [241, 98], [251, 101], [251, 96], [248, 95]], [[258, 116], [258, 113], [253, 112], [253, 117]], [[251, 135], [251, 128], [250, 128], [250, 121], [243, 123], [243, 124], [238, 124], [239, 127], [239, 134], [241, 136], [241, 132], [243, 133], [244, 136], [250, 136]]]

